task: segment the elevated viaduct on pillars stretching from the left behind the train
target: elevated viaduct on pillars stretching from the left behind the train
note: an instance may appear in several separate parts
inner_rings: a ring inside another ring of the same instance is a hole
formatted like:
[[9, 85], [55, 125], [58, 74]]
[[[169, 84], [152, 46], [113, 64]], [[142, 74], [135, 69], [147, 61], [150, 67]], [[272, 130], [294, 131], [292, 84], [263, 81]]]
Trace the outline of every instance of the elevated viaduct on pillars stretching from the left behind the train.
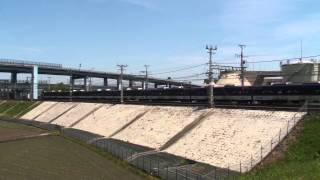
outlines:
[[[104, 82], [103, 87], [108, 86], [109, 79], [114, 79], [117, 81], [117, 89], [121, 88], [121, 84], [120, 84], [121, 74], [119, 73], [68, 68], [68, 67], [62, 66], [61, 64], [54, 64], [54, 63], [41, 63], [41, 62], [31, 62], [31, 61], [22, 61], [22, 60], [0, 59], [0, 72], [11, 73], [11, 81], [9, 84], [9, 89], [19, 87], [19, 85], [17, 85], [18, 73], [31, 74], [30, 89], [32, 92], [31, 93], [32, 99], [38, 98], [38, 75], [39, 74], [69, 76], [71, 90], [74, 89], [74, 86], [75, 86], [74, 82], [76, 79], [83, 79], [84, 86], [86, 87], [86, 90], [88, 90], [87, 87], [88, 87], [89, 78], [102, 78]], [[141, 82], [142, 87], [145, 87], [144, 86], [146, 82], [145, 76], [123, 74], [122, 77], [123, 77], [123, 80], [129, 81], [129, 87], [132, 87], [133, 82]], [[154, 77], [148, 77], [148, 83], [153, 83], [155, 88], [158, 85], [166, 85], [169, 88], [171, 86], [199, 87], [197, 85], [193, 85], [190, 83], [178, 82], [170, 79], [160, 79], [160, 78], [154, 78]]]

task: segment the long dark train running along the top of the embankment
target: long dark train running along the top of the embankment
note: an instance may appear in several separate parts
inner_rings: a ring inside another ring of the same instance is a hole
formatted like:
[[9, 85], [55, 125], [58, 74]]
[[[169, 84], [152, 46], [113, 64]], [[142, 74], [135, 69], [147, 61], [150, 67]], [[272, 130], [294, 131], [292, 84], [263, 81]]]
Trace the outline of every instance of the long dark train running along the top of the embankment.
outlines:
[[[95, 92], [45, 92], [43, 99], [79, 101], [119, 101], [120, 91]], [[215, 87], [214, 100], [217, 104], [275, 104], [320, 102], [320, 84], [274, 85], [250, 87]], [[208, 88], [173, 88], [150, 90], [125, 90], [125, 101], [153, 102], [208, 102]]]

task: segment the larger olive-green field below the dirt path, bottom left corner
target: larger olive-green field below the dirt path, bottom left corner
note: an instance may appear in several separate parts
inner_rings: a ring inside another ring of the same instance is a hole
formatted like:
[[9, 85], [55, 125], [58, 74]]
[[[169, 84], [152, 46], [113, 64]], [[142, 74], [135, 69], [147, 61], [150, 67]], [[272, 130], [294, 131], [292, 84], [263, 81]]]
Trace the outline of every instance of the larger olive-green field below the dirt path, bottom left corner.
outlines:
[[143, 179], [60, 136], [0, 144], [0, 179]]

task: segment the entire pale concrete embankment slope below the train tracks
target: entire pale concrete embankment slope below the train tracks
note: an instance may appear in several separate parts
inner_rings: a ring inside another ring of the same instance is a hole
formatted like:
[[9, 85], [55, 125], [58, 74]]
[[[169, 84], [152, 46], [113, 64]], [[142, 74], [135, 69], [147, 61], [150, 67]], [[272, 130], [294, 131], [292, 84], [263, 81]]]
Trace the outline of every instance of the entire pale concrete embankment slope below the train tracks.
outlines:
[[239, 171], [239, 162], [249, 162], [262, 146], [277, 137], [280, 129], [291, 129], [287, 125], [294, 116], [300, 119], [303, 115], [285, 111], [43, 102], [22, 118], [89, 131]]

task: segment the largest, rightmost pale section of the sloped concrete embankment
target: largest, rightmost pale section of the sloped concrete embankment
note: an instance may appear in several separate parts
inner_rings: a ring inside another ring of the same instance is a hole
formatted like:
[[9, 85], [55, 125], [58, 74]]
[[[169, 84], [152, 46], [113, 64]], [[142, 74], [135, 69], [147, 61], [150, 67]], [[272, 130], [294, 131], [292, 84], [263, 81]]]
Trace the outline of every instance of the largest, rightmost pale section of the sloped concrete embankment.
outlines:
[[[257, 156], [261, 146], [270, 148], [271, 139], [277, 138], [280, 129], [282, 133], [286, 131], [288, 121], [294, 114], [216, 109], [212, 116], [166, 152], [236, 171], [239, 171], [242, 162], [242, 171], [245, 171], [244, 164], [250, 162], [251, 155]], [[302, 115], [298, 113], [298, 116]]]

